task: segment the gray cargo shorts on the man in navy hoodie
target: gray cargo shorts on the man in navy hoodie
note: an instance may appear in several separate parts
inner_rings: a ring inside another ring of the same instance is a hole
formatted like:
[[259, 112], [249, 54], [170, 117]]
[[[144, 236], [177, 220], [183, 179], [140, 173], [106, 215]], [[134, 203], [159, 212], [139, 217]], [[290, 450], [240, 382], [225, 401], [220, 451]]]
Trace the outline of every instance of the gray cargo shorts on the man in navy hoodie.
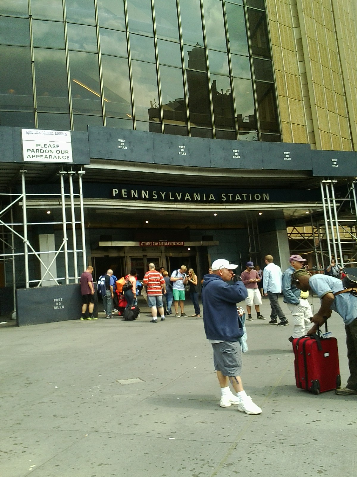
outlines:
[[213, 364], [223, 376], [240, 376], [242, 372], [242, 349], [238, 341], [212, 343]]

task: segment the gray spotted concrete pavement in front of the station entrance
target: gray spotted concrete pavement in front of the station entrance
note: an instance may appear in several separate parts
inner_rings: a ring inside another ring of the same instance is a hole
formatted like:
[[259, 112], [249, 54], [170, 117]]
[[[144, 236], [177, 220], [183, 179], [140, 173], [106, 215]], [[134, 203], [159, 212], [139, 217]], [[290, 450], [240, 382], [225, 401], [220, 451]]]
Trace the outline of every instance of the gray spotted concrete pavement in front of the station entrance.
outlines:
[[[148, 311], [135, 322], [0, 327], [0, 476], [356, 475], [357, 396], [296, 388], [292, 325], [247, 322], [242, 379], [263, 410], [249, 416], [218, 405], [202, 319], [153, 324]], [[261, 312], [268, 318], [267, 299]], [[329, 329], [346, 385], [335, 313]]]

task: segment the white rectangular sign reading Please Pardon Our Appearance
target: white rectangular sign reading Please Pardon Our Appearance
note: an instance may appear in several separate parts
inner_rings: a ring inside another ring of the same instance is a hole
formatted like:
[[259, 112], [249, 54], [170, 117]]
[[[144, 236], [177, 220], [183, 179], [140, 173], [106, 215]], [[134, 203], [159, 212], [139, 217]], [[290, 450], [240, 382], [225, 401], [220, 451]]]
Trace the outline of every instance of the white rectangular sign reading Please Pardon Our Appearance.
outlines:
[[70, 131], [22, 129], [23, 160], [72, 163]]

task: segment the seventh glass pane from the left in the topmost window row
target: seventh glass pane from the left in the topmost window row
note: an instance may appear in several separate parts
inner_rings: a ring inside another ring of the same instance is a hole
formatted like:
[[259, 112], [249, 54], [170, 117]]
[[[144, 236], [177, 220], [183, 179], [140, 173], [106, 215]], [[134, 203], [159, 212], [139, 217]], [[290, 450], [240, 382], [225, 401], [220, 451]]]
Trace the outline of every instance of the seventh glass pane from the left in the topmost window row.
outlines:
[[202, 19], [199, 0], [180, 0], [182, 41], [203, 46]]

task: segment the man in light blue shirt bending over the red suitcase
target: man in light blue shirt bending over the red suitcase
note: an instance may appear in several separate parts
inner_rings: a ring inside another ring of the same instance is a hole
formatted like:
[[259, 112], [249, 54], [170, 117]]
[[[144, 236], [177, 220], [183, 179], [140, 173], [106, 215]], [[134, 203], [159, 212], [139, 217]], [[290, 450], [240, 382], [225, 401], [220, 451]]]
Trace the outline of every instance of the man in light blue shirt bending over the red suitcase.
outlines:
[[294, 284], [299, 290], [312, 290], [321, 300], [321, 307], [311, 318], [315, 326], [308, 334], [316, 333], [317, 326], [322, 326], [331, 316], [331, 310], [336, 311], [345, 322], [347, 358], [350, 376], [347, 386], [336, 389], [336, 394], [346, 396], [357, 394], [357, 297], [344, 290], [342, 281], [327, 275], [313, 275], [306, 270], [297, 270], [293, 273]]

